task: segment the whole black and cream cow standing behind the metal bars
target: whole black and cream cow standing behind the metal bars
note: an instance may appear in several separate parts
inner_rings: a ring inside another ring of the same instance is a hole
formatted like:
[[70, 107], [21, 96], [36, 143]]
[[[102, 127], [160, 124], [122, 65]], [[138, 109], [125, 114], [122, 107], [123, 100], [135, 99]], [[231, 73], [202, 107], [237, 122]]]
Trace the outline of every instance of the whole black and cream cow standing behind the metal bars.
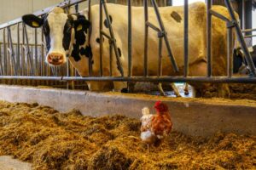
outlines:
[[[119, 59], [124, 69], [124, 75], [128, 71], [127, 32], [128, 19], [127, 7], [119, 4], [107, 3], [109, 18], [113, 27], [115, 41], [118, 46]], [[213, 6], [213, 10], [223, 14], [230, 19], [227, 8]], [[173, 71], [172, 63], [168, 56], [166, 47], [162, 50], [162, 75], [183, 75], [183, 7], [159, 8], [166, 33], [171, 43], [172, 53], [177, 61], [178, 72]], [[205, 3], [189, 4], [189, 76], [207, 75], [207, 9]], [[143, 76], [144, 57], [144, 14], [143, 7], [132, 8], [132, 75]], [[43, 26], [48, 54], [46, 62], [49, 65], [63, 65], [67, 57], [73, 66], [79, 71], [80, 76], [89, 76], [88, 63], [92, 56], [93, 76], [99, 76], [100, 71], [100, 35], [99, 35], [99, 5], [91, 6], [91, 20], [88, 20], [88, 10], [79, 14], [65, 14], [62, 8], [54, 8], [49, 14], [42, 18], [33, 14], [26, 14], [22, 20], [28, 26], [38, 28]], [[148, 8], [148, 19], [155, 26], [158, 20], [154, 14], [154, 8]], [[108, 32], [109, 24], [106, 15], [103, 15], [103, 31]], [[88, 32], [91, 29], [90, 41]], [[212, 17], [212, 64], [213, 76], [224, 76], [226, 71], [226, 25], [224, 21]], [[235, 37], [235, 33], [233, 32]], [[158, 62], [158, 37], [153, 30], [148, 32], [148, 74], [157, 75]], [[109, 43], [107, 38], [103, 39], [103, 76], [109, 75]], [[119, 77], [120, 72], [113, 59], [113, 76]], [[87, 82], [92, 91], [102, 88], [107, 82]], [[207, 84], [194, 83], [195, 89], [204, 89]], [[228, 88], [220, 86], [220, 94], [227, 94]], [[113, 82], [115, 91], [126, 88], [125, 82]]]

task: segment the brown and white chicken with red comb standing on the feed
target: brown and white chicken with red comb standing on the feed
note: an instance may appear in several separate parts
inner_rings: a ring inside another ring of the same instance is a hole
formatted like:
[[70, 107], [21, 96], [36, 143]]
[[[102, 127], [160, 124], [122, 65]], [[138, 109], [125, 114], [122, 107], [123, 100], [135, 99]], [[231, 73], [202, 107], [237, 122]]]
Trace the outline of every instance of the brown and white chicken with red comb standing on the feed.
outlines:
[[148, 146], [149, 144], [159, 143], [172, 130], [171, 116], [168, 111], [168, 106], [161, 101], [154, 105], [157, 113], [155, 115], [149, 114], [147, 107], [143, 108], [141, 117], [141, 139]]

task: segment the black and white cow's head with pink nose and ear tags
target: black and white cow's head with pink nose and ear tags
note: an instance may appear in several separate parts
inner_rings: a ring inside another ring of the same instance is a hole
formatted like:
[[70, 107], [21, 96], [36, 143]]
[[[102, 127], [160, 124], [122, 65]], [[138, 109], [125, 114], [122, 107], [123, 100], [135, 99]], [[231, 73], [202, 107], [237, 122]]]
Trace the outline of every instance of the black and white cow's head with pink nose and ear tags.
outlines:
[[90, 28], [90, 21], [83, 15], [65, 14], [62, 8], [54, 8], [42, 18], [34, 14], [26, 14], [22, 20], [33, 28], [43, 26], [48, 51], [46, 63], [49, 65], [66, 63], [67, 56], [73, 50], [73, 44], [82, 45]]

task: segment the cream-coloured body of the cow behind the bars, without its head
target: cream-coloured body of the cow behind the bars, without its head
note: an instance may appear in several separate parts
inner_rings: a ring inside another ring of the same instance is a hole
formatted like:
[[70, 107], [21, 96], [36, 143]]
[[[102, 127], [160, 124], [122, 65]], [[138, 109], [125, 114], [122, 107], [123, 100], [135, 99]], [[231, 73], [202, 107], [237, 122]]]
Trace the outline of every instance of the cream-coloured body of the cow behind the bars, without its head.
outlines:
[[[227, 9], [221, 6], [213, 6], [213, 9], [228, 17]], [[174, 76], [183, 74], [183, 7], [163, 7], [159, 8], [163, 23], [166, 27], [167, 36], [171, 44], [173, 55], [180, 69], [178, 73], [172, 70], [171, 60], [168, 57], [166, 46], [163, 48], [163, 75]], [[118, 4], [108, 4], [108, 12], [113, 22], [113, 32], [117, 41], [118, 48], [121, 49], [121, 63], [123, 65], [125, 76], [127, 76], [128, 68], [128, 51], [127, 51], [127, 7]], [[172, 17], [172, 14], [178, 14], [181, 20]], [[87, 14], [86, 14], [87, 15]], [[90, 38], [90, 46], [94, 59], [93, 72], [98, 76], [100, 68], [99, 48], [96, 42], [99, 37], [99, 6], [91, 7], [91, 26], [92, 34]], [[104, 19], [105, 20], [105, 15]], [[155, 26], [158, 25], [154, 9], [148, 9], [148, 18]], [[228, 17], [229, 18], [229, 17]], [[206, 76], [207, 75], [207, 14], [205, 3], [193, 3], [189, 5], [189, 75], [190, 76]], [[108, 28], [103, 26], [104, 31], [108, 32]], [[103, 71], [104, 75], [109, 75], [109, 46], [105, 38], [103, 50]], [[143, 76], [143, 57], [144, 57], [144, 15], [143, 7], [132, 8], [132, 75]], [[158, 63], [158, 37], [157, 32], [149, 29], [148, 33], [148, 74], [149, 76], [157, 75]], [[213, 65], [218, 63], [217, 68], [213, 70], [213, 75], [224, 74], [224, 64], [226, 56], [226, 28], [225, 23], [221, 20], [213, 18], [212, 20], [212, 58]], [[84, 63], [75, 62], [71, 58], [71, 62], [78, 69], [81, 76], [88, 76], [87, 59]], [[117, 69], [116, 60], [113, 59], [113, 76], [119, 77], [120, 73]], [[89, 82], [91, 90], [98, 90], [102, 86], [102, 82]], [[114, 82], [115, 90], [119, 91], [125, 88], [124, 82]]]

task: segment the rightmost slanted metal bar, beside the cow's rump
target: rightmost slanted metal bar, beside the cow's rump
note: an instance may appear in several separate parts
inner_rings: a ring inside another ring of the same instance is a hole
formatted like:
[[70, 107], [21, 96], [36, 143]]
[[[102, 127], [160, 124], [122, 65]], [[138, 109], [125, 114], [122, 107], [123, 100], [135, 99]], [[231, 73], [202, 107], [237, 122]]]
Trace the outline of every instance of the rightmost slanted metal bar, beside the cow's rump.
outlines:
[[225, 0], [225, 4], [226, 4], [226, 7], [228, 8], [229, 10], [229, 13], [230, 13], [230, 17], [231, 19], [233, 20], [233, 23], [235, 23], [235, 29], [236, 29], [236, 34], [237, 34], [237, 37], [238, 37], [238, 40], [241, 44], [241, 49], [242, 51], [244, 52], [245, 54], [245, 57], [247, 59], [247, 64], [249, 66], [249, 69], [251, 71], [251, 74], [256, 77], [256, 70], [255, 70], [255, 65], [253, 64], [253, 59], [252, 59], [252, 56], [251, 54], [249, 53], [248, 51], [248, 48], [247, 48], [247, 44], [246, 42], [244, 41], [244, 38], [242, 36], [242, 32], [241, 32], [241, 28], [240, 26], [238, 25], [238, 22], [236, 20], [236, 15], [234, 13], [234, 10], [231, 6], [231, 3], [230, 3], [230, 0]]

